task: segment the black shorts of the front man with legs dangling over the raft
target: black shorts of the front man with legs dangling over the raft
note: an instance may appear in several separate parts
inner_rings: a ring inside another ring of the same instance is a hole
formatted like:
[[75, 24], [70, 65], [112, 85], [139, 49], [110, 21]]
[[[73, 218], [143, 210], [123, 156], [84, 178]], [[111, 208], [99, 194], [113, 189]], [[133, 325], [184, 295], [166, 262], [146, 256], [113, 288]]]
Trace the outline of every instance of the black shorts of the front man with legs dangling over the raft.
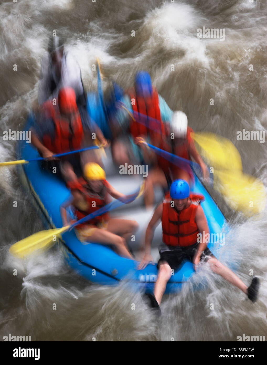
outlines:
[[[179, 266], [181, 266], [183, 261], [188, 260], [190, 262], [193, 262], [193, 258], [198, 249], [198, 245], [199, 243], [195, 243], [194, 245], [186, 247], [174, 247], [164, 244], [159, 246], [160, 259], [158, 261], [157, 267], [159, 268], [160, 262], [166, 261], [170, 265], [171, 269], [177, 270]], [[201, 254], [200, 260], [207, 261], [211, 257], [215, 258], [215, 256], [211, 253], [208, 247], [206, 247]]]

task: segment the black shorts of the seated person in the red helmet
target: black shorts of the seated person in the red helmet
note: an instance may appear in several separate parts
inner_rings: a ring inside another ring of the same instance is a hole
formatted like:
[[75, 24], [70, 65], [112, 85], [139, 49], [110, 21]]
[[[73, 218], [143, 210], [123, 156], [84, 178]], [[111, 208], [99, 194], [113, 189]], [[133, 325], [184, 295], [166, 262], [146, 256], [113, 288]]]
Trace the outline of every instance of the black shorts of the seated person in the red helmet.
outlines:
[[73, 170], [77, 177], [82, 176], [80, 154], [67, 156], [67, 158], [64, 158], [62, 160], [44, 160], [41, 162], [41, 166], [43, 170], [47, 170], [55, 174], [55, 176], [64, 180], [61, 172], [61, 166], [64, 161], [68, 161], [73, 166]]

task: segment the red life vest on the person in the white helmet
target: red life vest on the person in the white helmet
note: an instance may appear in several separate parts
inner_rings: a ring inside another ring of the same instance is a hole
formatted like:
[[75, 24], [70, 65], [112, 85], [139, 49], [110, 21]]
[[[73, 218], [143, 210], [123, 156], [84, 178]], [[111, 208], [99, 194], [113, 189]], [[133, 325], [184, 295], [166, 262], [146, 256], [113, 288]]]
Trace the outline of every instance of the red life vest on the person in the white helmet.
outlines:
[[[185, 158], [186, 160], [190, 160], [189, 155], [189, 145], [192, 141], [190, 136], [193, 129], [187, 127], [186, 139], [181, 144], [175, 144], [175, 139], [170, 139], [170, 126], [165, 123], [164, 135], [162, 136], [162, 140], [160, 143], [160, 149], [165, 150], [174, 154], [175, 156], [179, 156]], [[169, 174], [169, 169], [174, 170], [179, 169], [179, 167], [175, 164], [172, 164], [166, 158], [158, 155], [158, 166], [167, 174]]]

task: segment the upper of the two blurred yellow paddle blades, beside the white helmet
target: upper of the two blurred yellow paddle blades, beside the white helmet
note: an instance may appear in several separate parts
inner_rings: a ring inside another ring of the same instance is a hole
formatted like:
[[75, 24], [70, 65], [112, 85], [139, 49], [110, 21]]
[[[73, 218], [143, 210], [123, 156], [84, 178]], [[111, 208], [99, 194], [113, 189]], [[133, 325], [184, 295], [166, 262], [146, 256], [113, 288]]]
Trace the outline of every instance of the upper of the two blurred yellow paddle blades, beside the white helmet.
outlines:
[[240, 154], [229, 139], [208, 132], [191, 133], [191, 137], [214, 169], [242, 170]]

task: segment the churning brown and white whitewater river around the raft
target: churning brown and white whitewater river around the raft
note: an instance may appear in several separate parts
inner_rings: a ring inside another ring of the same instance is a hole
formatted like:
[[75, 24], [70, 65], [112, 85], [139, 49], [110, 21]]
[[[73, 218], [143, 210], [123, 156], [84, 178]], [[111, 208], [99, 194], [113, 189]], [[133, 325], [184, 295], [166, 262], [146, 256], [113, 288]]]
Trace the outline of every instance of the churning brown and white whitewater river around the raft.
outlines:
[[[224, 29], [225, 39], [199, 39], [197, 29], [202, 27]], [[106, 90], [112, 79], [128, 88], [137, 70], [149, 71], [173, 110], [183, 110], [195, 131], [229, 138], [240, 152], [244, 172], [267, 185], [266, 143], [236, 139], [243, 128], [267, 128], [265, 1], [1, 1], [1, 161], [15, 159], [16, 142], [3, 141], [2, 132], [23, 128], [53, 30], [65, 37], [66, 51], [76, 57], [88, 91], [97, 88], [92, 71], [97, 57]], [[203, 268], [195, 280], [208, 277], [208, 287], [193, 292], [189, 283], [179, 295], [165, 296], [162, 317], [156, 320], [140, 294], [124, 283], [112, 288], [88, 283], [65, 265], [57, 249], [24, 262], [11, 257], [12, 243], [43, 226], [16, 169], [1, 168], [0, 340], [9, 333], [31, 335], [32, 341], [236, 341], [243, 333], [267, 336], [266, 211], [245, 219], [210, 192], [231, 223], [224, 262], [229, 254], [247, 284], [253, 270], [261, 280], [259, 300], [252, 304]]]

